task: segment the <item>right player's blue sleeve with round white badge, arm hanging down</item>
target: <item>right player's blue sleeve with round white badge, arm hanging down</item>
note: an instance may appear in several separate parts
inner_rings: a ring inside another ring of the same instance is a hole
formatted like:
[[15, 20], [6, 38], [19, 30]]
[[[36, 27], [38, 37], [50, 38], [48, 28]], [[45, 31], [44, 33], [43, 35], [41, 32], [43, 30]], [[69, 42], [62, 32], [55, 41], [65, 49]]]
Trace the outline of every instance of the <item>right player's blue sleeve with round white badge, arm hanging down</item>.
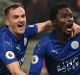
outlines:
[[29, 70], [29, 75], [40, 75], [44, 63], [45, 48], [41, 44], [37, 44], [34, 49], [32, 63]]

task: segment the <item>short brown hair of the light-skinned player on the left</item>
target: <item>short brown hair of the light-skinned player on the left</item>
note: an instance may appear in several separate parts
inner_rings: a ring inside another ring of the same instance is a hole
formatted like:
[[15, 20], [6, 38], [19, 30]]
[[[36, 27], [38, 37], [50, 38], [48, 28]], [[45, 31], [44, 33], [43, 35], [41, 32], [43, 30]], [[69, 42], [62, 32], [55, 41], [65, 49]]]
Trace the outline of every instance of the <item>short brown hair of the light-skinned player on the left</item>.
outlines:
[[5, 17], [8, 16], [10, 9], [15, 9], [15, 8], [18, 8], [18, 7], [22, 7], [22, 8], [23, 8], [23, 6], [22, 6], [20, 3], [14, 3], [14, 4], [11, 4], [11, 5], [7, 6], [7, 7], [4, 8], [4, 10], [3, 10], [4, 16], [5, 16]]

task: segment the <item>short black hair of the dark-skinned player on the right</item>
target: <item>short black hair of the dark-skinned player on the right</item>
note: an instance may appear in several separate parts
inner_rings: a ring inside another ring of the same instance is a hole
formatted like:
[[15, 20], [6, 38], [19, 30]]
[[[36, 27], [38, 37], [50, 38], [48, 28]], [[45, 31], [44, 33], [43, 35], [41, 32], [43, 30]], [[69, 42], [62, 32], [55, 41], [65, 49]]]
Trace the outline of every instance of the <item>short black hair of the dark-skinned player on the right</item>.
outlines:
[[59, 3], [59, 4], [54, 5], [50, 10], [50, 20], [56, 19], [58, 11], [62, 8], [69, 8], [69, 6], [65, 3]]

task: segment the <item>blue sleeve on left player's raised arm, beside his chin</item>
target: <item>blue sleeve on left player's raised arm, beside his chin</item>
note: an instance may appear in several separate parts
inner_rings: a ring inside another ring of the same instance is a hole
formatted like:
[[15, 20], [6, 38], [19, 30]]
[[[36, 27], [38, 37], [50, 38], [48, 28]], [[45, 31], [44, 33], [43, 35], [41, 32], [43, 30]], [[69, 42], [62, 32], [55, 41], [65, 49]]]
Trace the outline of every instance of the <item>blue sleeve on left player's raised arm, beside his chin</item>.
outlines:
[[27, 25], [25, 29], [25, 35], [27, 37], [32, 37], [38, 32], [38, 27], [36, 24], [34, 25]]

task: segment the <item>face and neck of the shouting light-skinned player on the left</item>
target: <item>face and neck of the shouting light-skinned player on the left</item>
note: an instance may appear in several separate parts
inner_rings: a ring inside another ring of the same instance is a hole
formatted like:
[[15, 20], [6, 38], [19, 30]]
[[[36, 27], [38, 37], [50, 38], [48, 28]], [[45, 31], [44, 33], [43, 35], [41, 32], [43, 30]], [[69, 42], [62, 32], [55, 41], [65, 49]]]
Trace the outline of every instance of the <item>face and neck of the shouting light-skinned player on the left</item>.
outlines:
[[26, 15], [22, 7], [10, 9], [6, 24], [9, 30], [17, 37], [20, 37], [25, 32]]

